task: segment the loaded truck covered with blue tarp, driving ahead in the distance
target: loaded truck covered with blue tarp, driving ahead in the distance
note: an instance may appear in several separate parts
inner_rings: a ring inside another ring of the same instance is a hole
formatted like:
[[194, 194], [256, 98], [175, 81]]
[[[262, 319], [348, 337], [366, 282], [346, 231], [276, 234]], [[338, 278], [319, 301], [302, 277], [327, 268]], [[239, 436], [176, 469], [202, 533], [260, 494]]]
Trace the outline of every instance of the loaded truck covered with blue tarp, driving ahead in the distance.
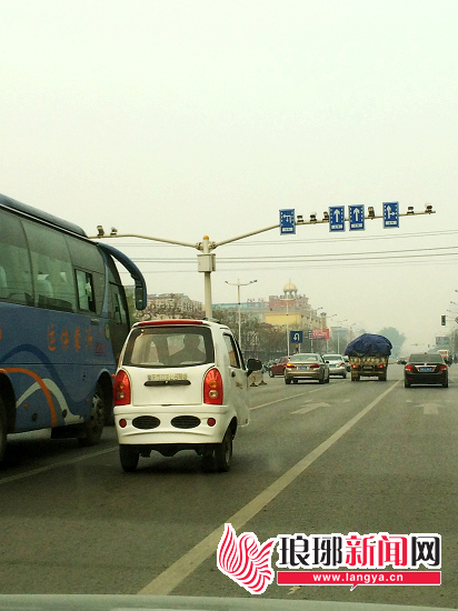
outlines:
[[345, 349], [345, 354], [350, 361], [351, 381], [359, 382], [364, 377], [378, 378], [380, 382], [386, 382], [391, 349], [389, 339], [372, 333], [362, 333], [350, 341]]

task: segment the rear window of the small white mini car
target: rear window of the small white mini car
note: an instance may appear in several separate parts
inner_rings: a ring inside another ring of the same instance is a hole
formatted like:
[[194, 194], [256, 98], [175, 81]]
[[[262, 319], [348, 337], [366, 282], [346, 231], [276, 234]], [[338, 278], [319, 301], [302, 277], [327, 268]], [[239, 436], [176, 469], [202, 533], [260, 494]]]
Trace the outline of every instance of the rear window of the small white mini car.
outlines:
[[211, 331], [206, 327], [139, 327], [127, 343], [122, 364], [177, 368], [215, 362]]

